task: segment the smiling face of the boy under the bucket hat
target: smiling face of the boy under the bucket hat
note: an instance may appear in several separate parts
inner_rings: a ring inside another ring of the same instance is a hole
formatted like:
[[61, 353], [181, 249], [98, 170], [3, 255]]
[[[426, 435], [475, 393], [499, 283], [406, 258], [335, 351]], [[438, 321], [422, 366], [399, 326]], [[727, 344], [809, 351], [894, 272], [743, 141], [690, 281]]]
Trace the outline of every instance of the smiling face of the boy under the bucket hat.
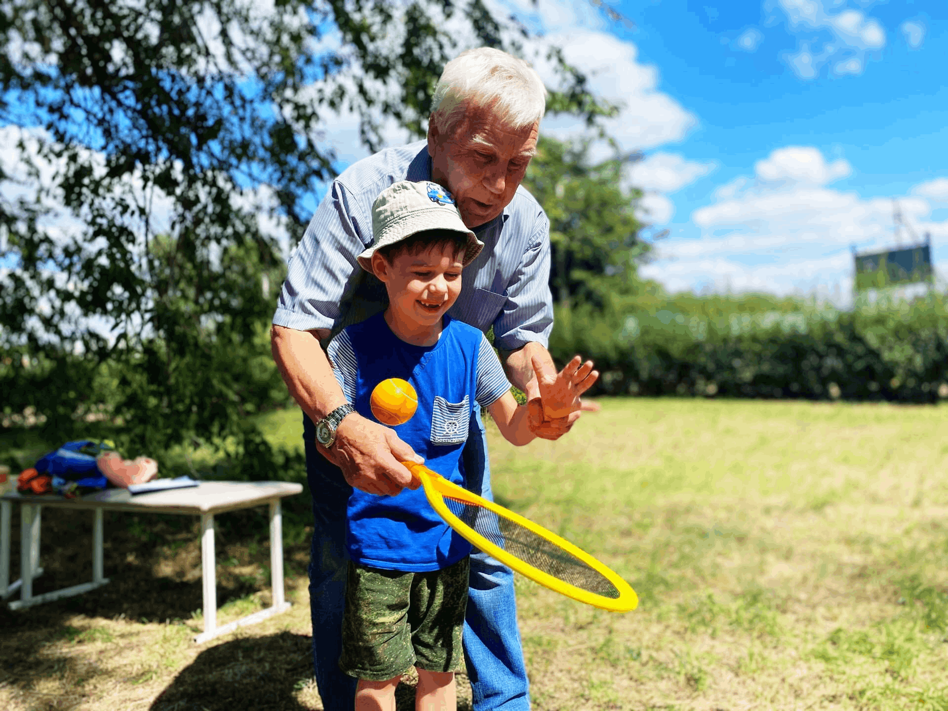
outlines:
[[378, 252], [372, 256], [375, 276], [389, 292], [392, 318], [408, 330], [440, 325], [442, 317], [461, 294], [462, 259], [456, 246], [435, 244], [417, 254], [403, 251], [388, 262]]

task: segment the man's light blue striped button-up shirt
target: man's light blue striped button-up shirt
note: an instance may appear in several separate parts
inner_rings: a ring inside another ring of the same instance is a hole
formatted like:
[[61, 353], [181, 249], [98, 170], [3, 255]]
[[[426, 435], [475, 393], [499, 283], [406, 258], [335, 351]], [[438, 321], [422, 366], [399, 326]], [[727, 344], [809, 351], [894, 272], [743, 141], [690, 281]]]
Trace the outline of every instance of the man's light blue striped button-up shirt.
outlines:
[[[385, 287], [356, 256], [373, 241], [372, 205], [398, 180], [430, 180], [428, 142], [389, 148], [340, 174], [290, 257], [273, 323], [300, 331], [337, 333], [388, 303]], [[501, 215], [474, 229], [483, 249], [465, 267], [461, 295], [449, 314], [513, 351], [531, 341], [547, 345], [553, 329], [550, 221], [522, 186]]]

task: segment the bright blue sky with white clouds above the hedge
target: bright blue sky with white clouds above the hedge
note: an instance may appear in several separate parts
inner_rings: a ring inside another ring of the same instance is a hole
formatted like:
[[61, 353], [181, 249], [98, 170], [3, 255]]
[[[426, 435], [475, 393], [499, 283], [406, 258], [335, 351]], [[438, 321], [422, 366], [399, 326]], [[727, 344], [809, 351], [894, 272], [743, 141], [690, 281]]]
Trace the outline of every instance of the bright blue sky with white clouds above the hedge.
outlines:
[[582, 0], [520, 12], [594, 72], [600, 93], [627, 103], [614, 128], [647, 154], [630, 180], [647, 189], [655, 228], [670, 230], [648, 277], [671, 290], [845, 303], [850, 246], [912, 241], [894, 233], [892, 198], [917, 233], [931, 232], [948, 275], [943, 0], [611, 7], [636, 27]]

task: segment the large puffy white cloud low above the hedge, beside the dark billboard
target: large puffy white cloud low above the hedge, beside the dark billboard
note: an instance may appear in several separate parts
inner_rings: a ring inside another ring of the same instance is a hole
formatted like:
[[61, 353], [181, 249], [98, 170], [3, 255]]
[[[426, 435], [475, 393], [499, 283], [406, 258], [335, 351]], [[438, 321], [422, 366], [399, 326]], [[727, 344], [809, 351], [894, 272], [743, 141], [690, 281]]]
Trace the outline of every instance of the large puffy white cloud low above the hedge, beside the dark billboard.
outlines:
[[[672, 291], [815, 291], [845, 305], [852, 284], [850, 247], [899, 244], [891, 199], [863, 199], [827, 187], [850, 171], [847, 161], [828, 163], [812, 147], [774, 151], [757, 161], [753, 177], [721, 186], [714, 203], [692, 213], [700, 239], [660, 243], [658, 259], [642, 268], [643, 276]], [[913, 192], [898, 198], [904, 221], [920, 237], [932, 234], [936, 268], [948, 267], [948, 254], [938, 252], [948, 238], [948, 220], [933, 221], [929, 202], [948, 201], [948, 178], [921, 184]], [[911, 236], [902, 234], [901, 240], [911, 241]]]

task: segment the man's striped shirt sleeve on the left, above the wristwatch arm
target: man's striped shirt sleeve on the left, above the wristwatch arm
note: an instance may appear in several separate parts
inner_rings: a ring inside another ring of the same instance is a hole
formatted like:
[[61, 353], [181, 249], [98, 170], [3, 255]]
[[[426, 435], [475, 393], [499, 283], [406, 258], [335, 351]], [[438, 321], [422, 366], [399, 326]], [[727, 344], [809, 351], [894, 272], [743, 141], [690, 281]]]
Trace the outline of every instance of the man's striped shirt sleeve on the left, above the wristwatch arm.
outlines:
[[300, 331], [332, 328], [346, 287], [361, 268], [356, 257], [371, 243], [364, 206], [333, 181], [287, 265], [273, 323]]

